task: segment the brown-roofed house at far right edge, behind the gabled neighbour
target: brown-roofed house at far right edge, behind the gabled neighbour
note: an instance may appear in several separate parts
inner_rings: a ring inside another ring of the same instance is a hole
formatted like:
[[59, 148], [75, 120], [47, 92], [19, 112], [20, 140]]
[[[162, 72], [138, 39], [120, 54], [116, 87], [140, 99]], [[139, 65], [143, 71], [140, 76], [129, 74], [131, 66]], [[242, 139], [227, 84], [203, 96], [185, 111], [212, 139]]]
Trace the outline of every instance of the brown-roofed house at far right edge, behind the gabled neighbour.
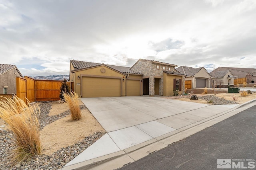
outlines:
[[230, 70], [236, 78], [247, 78], [247, 83], [256, 82], [256, 68], [218, 67], [215, 71]]

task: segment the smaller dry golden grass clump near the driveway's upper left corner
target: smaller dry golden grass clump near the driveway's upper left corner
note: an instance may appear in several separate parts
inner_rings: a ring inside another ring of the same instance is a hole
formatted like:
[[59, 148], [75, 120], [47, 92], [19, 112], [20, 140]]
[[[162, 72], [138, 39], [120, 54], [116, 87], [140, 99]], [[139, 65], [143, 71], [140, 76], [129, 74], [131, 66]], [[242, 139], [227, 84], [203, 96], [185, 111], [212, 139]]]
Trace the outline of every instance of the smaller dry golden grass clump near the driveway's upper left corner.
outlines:
[[71, 119], [73, 121], [80, 120], [82, 113], [79, 106], [80, 98], [78, 94], [75, 92], [71, 92], [71, 94], [64, 93], [63, 96], [64, 101], [66, 102], [66, 104], [68, 104], [68, 107], [70, 109]]

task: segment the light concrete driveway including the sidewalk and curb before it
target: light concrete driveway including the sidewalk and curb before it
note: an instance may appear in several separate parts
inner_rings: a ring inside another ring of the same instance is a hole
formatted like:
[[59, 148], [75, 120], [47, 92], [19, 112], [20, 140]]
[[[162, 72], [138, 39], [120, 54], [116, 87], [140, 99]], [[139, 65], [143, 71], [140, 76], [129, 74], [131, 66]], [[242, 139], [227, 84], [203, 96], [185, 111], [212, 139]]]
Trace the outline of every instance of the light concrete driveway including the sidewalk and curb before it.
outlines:
[[82, 102], [107, 133], [62, 170], [93, 168], [112, 158], [116, 160], [106, 162], [106, 166], [119, 168], [236, 113], [230, 111], [240, 110], [236, 109], [238, 105], [206, 105], [145, 96], [82, 98]]

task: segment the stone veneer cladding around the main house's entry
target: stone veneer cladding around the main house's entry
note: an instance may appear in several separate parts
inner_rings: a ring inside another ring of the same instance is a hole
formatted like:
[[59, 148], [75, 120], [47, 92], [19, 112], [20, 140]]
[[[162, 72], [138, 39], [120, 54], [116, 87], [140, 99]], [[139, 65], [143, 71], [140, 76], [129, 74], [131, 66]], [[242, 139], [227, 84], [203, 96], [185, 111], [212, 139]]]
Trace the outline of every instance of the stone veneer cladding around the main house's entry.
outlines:
[[[156, 65], [160, 66], [160, 69], [156, 69]], [[149, 95], [154, 96], [155, 95], [155, 78], [154, 76], [162, 76], [159, 81], [159, 94], [163, 96], [164, 89], [163, 89], [163, 66], [167, 66], [165, 64], [156, 64], [152, 63], [150, 61], [142, 61], [139, 60], [134, 66], [132, 66], [131, 70], [136, 72], [143, 73], [143, 77], [149, 76]], [[168, 66], [170, 67], [170, 66]], [[172, 70], [173, 70], [173, 66]], [[143, 78], [142, 77], [142, 78]], [[184, 79], [184, 78], [183, 78]], [[182, 80], [182, 87], [185, 87], [185, 79]], [[185, 91], [185, 88], [183, 92]]]

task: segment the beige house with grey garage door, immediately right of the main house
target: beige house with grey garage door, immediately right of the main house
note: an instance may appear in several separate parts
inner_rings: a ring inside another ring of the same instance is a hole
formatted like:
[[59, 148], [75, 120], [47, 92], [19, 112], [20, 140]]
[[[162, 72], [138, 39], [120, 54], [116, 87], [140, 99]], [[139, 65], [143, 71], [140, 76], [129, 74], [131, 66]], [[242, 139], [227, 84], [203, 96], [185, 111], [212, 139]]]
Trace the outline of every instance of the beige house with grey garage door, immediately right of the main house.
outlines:
[[176, 68], [182, 74], [185, 74], [185, 80], [191, 81], [192, 88], [210, 88], [211, 76], [204, 67], [193, 68], [188, 66], [180, 66]]

